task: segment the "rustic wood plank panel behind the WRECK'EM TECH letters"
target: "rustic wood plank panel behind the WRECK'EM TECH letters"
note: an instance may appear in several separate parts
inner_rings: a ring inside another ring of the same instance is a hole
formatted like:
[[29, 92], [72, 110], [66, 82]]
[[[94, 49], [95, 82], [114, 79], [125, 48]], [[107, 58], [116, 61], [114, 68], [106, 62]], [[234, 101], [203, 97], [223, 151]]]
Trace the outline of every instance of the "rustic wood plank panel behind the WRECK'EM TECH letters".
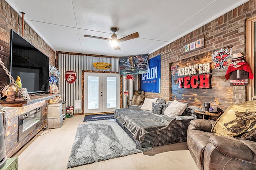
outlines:
[[[230, 48], [230, 46], [225, 47], [224, 49], [226, 48]], [[172, 66], [182, 68], [195, 64], [211, 63], [210, 88], [178, 88], [177, 79], [181, 76], [178, 76], [178, 71], [176, 69], [175, 76], [171, 75], [170, 77], [170, 99], [187, 102], [190, 106], [198, 106], [200, 108], [204, 106], [204, 102], [210, 102], [211, 106], [218, 106], [224, 110], [232, 104], [233, 87], [230, 86], [229, 81], [225, 79], [225, 73], [228, 67], [225, 69], [216, 69], [214, 67], [215, 63], [212, 61], [211, 56], [214, 51], [170, 63], [170, 68]]]

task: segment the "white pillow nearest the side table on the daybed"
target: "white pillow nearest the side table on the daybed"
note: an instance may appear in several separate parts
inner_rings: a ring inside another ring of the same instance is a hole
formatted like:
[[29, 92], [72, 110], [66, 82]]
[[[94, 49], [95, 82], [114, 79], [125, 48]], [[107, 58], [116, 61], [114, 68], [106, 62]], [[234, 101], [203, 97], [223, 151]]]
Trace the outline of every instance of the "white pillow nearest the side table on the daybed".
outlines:
[[169, 117], [172, 116], [180, 116], [186, 109], [186, 104], [180, 103], [177, 100], [174, 100], [171, 104], [169, 104], [168, 107], [166, 107], [164, 111], [164, 115], [167, 115]]

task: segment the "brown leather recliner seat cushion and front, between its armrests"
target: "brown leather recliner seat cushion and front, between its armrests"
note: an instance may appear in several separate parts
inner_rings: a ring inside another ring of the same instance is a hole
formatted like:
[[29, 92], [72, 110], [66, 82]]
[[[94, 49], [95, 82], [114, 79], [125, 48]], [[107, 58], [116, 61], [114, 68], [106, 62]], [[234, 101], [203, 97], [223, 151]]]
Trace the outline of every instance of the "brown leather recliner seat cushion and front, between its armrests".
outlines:
[[213, 133], [193, 130], [188, 133], [188, 149], [196, 162], [203, 166], [204, 149], [208, 143], [209, 138], [215, 136]]

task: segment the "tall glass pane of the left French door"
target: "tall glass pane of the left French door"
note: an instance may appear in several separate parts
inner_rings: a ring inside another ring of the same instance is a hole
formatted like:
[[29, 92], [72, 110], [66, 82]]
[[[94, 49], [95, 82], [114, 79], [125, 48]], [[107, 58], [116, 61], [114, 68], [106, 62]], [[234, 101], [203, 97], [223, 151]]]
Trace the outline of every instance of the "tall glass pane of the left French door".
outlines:
[[88, 109], [99, 108], [99, 77], [88, 76]]

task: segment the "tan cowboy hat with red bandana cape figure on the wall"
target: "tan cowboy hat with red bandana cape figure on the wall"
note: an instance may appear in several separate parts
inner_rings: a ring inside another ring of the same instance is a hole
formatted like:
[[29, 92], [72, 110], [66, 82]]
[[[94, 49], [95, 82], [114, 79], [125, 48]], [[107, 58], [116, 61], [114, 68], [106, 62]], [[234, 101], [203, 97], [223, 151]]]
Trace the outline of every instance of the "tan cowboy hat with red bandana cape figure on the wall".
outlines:
[[244, 57], [246, 57], [246, 55], [244, 56], [241, 53], [237, 53], [232, 56], [231, 63], [229, 64], [228, 70], [225, 74], [226, 80], [229, 79], [230, 73], [236, 70], [245, 70], [249, 73], [248, 78], [253, 79], [253, 74], [250, 65], [247, 63]]

